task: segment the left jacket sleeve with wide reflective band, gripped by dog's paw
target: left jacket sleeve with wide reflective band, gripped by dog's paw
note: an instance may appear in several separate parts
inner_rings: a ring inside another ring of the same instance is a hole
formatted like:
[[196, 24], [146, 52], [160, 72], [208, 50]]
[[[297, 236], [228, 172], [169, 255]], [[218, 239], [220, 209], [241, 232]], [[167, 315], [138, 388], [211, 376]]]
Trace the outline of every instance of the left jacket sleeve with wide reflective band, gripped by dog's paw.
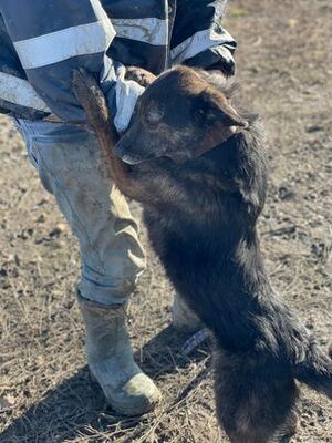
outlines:
[[29, 83], [55, 115], [85, 121], [71, 87], [83, 66], [98, 76], [117, 130], [126, 128], [143, 89], [106, 56], [115, 30], [100, 0], [1, 0], [0, 13]]

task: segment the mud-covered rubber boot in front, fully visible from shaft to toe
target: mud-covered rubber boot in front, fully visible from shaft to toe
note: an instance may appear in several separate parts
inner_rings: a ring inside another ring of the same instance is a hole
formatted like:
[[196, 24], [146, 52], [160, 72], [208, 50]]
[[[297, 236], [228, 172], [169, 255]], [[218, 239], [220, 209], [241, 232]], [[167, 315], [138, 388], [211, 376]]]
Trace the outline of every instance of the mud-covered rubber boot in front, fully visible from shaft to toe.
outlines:
[[124, 415], [151, 411], [160, 392], [134, 361], [124, 305], [108, 307], [82, 297], [79, 300], [85, 322], [89, 367], [107, 402]]

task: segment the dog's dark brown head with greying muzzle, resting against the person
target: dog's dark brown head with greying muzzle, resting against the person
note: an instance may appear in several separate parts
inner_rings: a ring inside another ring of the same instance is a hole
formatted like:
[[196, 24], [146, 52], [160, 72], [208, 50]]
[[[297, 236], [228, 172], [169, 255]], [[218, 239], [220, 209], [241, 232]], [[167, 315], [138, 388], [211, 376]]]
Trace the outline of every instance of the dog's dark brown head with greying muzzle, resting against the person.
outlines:
[[175, 162], [198, 157], [248, 126], [208, 74], [178, 66], [165, 72], [137, 102], [116, 154], [128, 164], [162, 156]]

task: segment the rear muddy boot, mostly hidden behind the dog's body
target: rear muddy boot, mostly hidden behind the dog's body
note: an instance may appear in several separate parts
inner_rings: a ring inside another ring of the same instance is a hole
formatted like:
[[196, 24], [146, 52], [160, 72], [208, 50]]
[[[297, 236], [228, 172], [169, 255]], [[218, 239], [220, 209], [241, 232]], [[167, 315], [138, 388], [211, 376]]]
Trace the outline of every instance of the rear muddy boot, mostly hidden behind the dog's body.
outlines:
[[195, 332], [204, 328], [203, 322], [178, 293], [174, 296], [172, 320], [173, 326], [184, 332]]

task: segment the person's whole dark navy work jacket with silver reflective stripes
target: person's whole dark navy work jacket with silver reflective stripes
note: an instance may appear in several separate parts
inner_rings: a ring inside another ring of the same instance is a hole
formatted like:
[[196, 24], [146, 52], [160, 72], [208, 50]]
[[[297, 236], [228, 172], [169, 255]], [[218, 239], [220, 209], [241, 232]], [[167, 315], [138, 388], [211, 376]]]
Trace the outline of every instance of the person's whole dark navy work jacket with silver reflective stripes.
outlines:
[[0, 111], [23, 119], [84, 122], [73, 69], [94, 72], [118, 131], [142, 87], [125, 66], [155, 74], [174, 64], [234, 71], [234, 39], [221, 25], [227, 0], [1, 0]]

